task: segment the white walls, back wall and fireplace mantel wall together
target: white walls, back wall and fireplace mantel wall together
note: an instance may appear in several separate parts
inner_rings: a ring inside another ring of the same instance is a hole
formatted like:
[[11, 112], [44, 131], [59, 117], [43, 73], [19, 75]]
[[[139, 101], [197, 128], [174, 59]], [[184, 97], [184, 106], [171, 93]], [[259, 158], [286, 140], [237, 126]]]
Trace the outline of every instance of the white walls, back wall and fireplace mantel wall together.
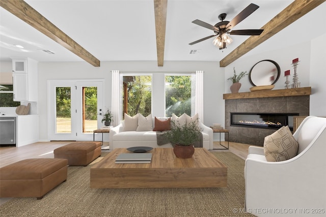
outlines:
[[[282, 89], [285, 86], [284, 71], [291, 70], [292, 59], [299, 58], [297, 68], [298, 78], [301, 87], [311, 86], [312, 95], [310, 98], [310, 114], [326, 116], [326, 73], [324, 72], [324, 61], [326, 59], [326, 34], [304, 44], [286, 47], [280, 50], [261, 53], [259, 55], [243, 56], [226, 68], [220, 68], [218, 62], [211, 61], [166, 61], [164, 67], [157, 67], [156, 61], [113, 61], [101, 62], [101, 67], [93, 67], [85, 62], [60, 62], [44, 63], [38, 65], [39, 69], [39, 102], [38, 111], [40, 115], [40, 141], [47, 141], [47, 81], [49, 79], [104, 79], [104, 107], [111, 107], [111, 71], [120, 72], [150, 72], [158, 73], [158, 78], [164, 73], [195, 72], [203, 70], [204, 73], [204, 123], [211, 126], [212, 123], [225, 121], [225, 106], [223, 94], [230, 92], [231, 81], [226, 78], [233, 74], [233, 67], [236, 72], [249, 72], [252, 66], [263, 59], [276, 61], [281, 68], [281, 76], [275, 84], [275, 89]], [[11, 62], [2, 62], [1, 66], [8, 66]], [[225, 74], [225, 75], [224, 75]], [[291, 77], [291, 76], [290, 76]], [[290, 79], [291, 83], [292, 80]], [[153, 80], [153, 84], [155, 79]], [[240, 80], [242, 86], [240, 92], [250, 91], [252, 86], [248, 77]], [[161, 88], [161, 87], [157, 87]], [[153, 103], [162, 103], [154, 99]], [[160, 116], [164, 109], [153, 111], [153, 115]], [[223, 136], [223, 135], [222, 135]], [[218, 135], [214, 135], [218, 140]], [[223, 137], [222, 137], [223, 140]]]

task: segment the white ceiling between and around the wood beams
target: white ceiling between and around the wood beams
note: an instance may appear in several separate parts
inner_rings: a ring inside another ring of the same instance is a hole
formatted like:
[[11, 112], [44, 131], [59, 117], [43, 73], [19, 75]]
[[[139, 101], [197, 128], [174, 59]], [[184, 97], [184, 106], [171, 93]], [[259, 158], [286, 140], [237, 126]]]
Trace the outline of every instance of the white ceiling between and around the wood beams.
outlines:
[[[153, 0], [25, 2], [100, 61], [157, 60]], [[230, 21], [250, 3], [254, 3], [260, 8], [233, 29], [258, 29], [291, 2], [168, 0], [164, 60], [220, 61], [248, 38], [232, 35], [232, 44], [223, 52], [212, 45], [213, 38], [188, 45], [213, 35], [212, 30], [192, 23], [195, 19], [214, 25], [220, 21], [219, 14], [227, 13], [226, 20]], [[325, 11], [326, 4], [321, 4], [246, 55], [305, 43], [325, 34]], [[84, 61], [5, 9], [0, 8], [0, 13], [1, 60], [31, 57], [38, 61]], [[22, 45], [24, 49], [16, 48], [14, 44]], [[47, 54], [42, 51], [44, 49], [55, 54]], [[198, 50], [196, 54], [189, 54], [193, 49]]]

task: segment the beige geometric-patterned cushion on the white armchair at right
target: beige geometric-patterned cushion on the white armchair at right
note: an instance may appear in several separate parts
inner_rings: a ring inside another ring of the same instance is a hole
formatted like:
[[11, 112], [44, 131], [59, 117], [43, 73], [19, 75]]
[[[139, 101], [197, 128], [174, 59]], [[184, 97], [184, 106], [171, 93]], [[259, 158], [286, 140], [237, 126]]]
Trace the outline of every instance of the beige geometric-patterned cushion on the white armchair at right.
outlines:
[[269, 162], [286, 161], [296, 156], [299, 144], [288, 126], [264, 139], [264, 153]]

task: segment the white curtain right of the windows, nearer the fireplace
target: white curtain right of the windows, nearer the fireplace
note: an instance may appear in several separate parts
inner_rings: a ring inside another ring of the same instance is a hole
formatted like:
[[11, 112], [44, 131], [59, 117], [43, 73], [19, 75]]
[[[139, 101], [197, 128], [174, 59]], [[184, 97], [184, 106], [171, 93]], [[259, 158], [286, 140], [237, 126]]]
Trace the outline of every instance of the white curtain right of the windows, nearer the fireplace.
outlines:
[[204, 71], [196, 71], [196, 103], [195, 113], [198, 113], [199, 120], [204, 122]]

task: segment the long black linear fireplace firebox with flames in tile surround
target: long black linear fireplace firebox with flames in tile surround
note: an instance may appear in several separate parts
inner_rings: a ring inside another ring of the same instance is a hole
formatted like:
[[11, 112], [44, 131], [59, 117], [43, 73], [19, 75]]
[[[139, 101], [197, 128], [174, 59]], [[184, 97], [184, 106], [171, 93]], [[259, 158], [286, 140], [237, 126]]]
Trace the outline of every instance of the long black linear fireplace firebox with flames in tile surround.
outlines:
[[289, 126], [293, 130], [293, 116], [298, 113], [230, 113], [231, 126], [279, 129]]

